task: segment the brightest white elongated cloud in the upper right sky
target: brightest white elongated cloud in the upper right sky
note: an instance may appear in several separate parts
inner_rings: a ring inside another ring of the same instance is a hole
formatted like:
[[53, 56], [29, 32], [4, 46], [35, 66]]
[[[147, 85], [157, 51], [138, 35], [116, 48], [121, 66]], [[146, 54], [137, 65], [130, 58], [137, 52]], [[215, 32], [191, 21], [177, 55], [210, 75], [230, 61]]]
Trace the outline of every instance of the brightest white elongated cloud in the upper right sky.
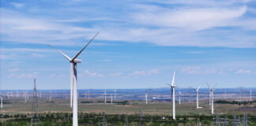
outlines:
[[[146, 8], [147, 6], [143, 7]], [[152, 6], [148, 6], [152, 7]], [[153, 24], [163, 27], [179, 27], [201, 30], [219, 26], [232, 26], [235, 18], [241, 17], [247, 11], [247, 6], [239, 8], [196, 8], [196, 9], [166, 9], [156, 7], [155, 10], [142, 10], [134, 13], [134, 22]]]

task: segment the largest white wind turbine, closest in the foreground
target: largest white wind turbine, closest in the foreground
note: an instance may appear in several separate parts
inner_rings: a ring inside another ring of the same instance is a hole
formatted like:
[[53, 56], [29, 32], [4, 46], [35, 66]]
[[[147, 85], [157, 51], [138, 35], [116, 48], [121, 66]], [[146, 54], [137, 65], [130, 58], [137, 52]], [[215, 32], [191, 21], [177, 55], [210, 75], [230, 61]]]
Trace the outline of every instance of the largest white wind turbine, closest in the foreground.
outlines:
[[[96, 33], [98, 35], [99, 32]], [[68, 61], [70, 61], [70, 107], [73, 106], [73, 126], [78, 125], [78, 119], [77, 119], [77, 63], [81, 63], [81, 59], [77, 59], [79, 54], [85, 48], [88, 46], [89, 43], [92, 42], [92, 40], [96, 37], [96, 35], [93, 36], [93, 38], [80, 50], [78, 54], [76, 54], [73, 58], [68, 57], [66, 54], [62, 53], [62, 51], [57, 50], [58, 53], [62, 54]], [[50, 46], [50, 45], [48, 45]], [[51, 46], [53, 49], [55, 47]], [[55, 49], [56, 50], [56, 49]], [[73, 105], [72, 105], [73, 104]]]

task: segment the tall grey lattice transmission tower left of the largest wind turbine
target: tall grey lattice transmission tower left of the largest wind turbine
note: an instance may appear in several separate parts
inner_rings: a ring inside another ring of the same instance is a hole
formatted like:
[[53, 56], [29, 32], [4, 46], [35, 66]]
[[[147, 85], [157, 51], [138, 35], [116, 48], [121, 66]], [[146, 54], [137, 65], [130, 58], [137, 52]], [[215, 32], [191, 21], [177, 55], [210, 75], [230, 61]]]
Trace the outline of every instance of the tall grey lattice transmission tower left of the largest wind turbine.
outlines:
[[31, 118], [31, 126], [34, 126], [34, 125], [40, 125], [40, 117], [38, 113], [38, 102], [37, 102], [37, 94], [36, 94], [36, 79], [34, 79], [32, 118]]

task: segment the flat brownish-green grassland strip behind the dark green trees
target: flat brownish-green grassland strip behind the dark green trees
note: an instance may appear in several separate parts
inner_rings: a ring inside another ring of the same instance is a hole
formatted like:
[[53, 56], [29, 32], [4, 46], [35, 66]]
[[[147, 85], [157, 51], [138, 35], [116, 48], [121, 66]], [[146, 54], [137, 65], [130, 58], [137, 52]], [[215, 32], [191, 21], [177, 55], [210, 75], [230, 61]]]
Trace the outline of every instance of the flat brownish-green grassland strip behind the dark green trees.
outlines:
[[[70, 109], [70, 99], [53, 99], [54, 102], [47, 102], [47, 99], [39, 99], [40, 113], [72, 113]], [[149, 114], [171, 114], [171, 102], [149, 102], [145, 105], [145, 101], [130, 101], [130, 105], [121, 106], [115, 104], [104, 104], [94, 101], [94, 103], [81, 103], [83, 99], [79, 99], [78, 111], [82, 113], [108, 113], [108, 114], [136, 114], [140, 110], [143, 113]], [[176, 103], [177, 115], [190, 115], [190, 114], [204, 114], [210, 115], [211, 108], [208, 101], [201, 101], [200, 106], [202, 109], [196, 109], [195, 102], [184, 102], [179, 105]], [[5, 104], [1, 109], [1, 113], [15, 114], [15, 113], [31, 113], [32, 102], [24, 103], [24, 100], [15, 99]], [[256, 103], [248, 104], [246, 106], [231, 105], [231, 104], [214, 104], [214, 111], [216, 114], [240, 114], [247, 113], [256, 116]]]

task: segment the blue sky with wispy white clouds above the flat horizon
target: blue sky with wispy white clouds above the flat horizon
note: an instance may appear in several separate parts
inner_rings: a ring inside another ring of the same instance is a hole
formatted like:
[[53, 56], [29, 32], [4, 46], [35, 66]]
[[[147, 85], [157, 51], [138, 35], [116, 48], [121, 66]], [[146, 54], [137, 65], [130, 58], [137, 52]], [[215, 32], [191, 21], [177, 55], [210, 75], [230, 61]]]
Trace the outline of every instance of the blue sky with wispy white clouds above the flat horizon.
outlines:
[[256, 2], [41, 0], [1, 2], [1, 88], [255, 87]]

